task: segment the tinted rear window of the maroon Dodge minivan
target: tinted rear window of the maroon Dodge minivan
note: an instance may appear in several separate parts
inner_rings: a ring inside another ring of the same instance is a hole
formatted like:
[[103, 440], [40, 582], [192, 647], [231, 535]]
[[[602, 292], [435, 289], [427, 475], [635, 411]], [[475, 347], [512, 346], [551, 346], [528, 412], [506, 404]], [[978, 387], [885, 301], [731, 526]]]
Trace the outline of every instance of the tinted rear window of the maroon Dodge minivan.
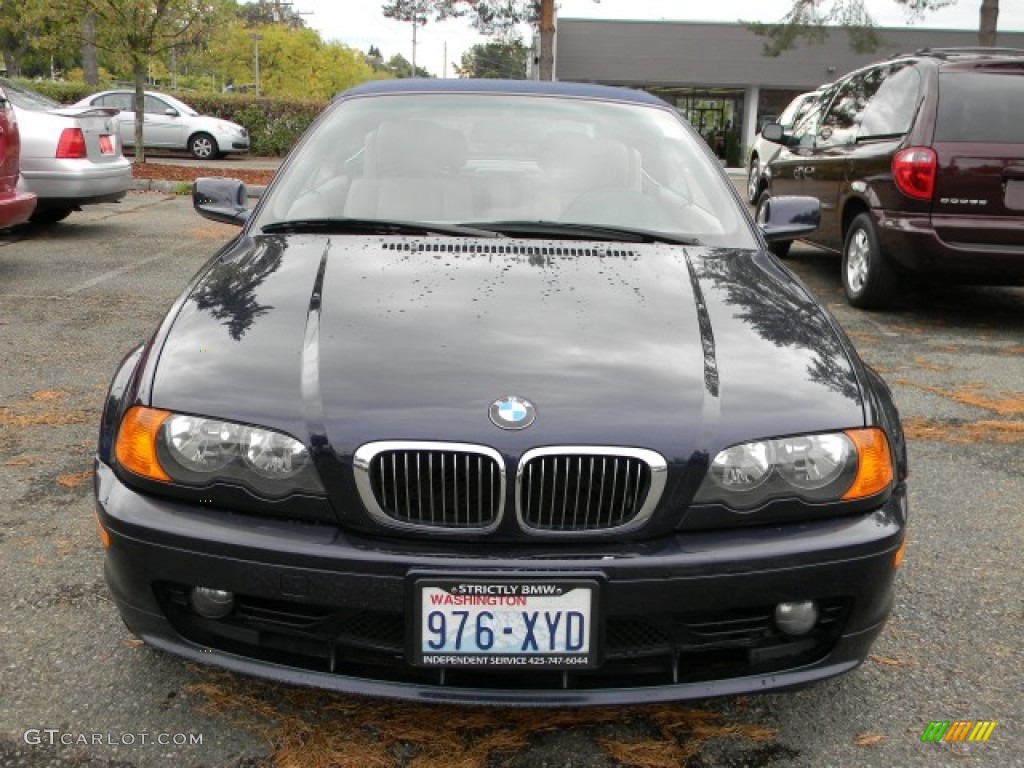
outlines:
[[943, 73], [935, 140], [1024, 143], [1024, 69]]

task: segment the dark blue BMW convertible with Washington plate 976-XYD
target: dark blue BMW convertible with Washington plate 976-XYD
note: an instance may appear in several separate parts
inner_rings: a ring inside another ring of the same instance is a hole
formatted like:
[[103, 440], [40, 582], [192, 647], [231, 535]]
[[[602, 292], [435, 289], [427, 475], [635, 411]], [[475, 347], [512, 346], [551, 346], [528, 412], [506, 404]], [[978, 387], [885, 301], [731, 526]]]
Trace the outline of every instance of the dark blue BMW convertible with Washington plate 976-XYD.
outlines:
[[151, 645], [438, 702], [579, 706], [854, 669], [903, 554], [879, 376], [669, 104], [348, 91], [114, 376], [106, 580]]

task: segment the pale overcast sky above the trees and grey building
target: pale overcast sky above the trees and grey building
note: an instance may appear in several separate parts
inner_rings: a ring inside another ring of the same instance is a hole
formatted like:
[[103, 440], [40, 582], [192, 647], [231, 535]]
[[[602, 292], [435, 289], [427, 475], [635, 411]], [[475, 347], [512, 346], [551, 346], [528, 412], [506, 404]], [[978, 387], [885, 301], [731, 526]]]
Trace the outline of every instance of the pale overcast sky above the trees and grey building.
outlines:
[[[865, 0], [868, 10], [883, 27], [913, 25], [939, 30], [978, 29], [980, 0], [958, 0], [952, 7], [909, 19], [895, 0]], [[325, 40], [344, 43], [359, 50], [371, 45], [385, 57], [400, 53], [413, 58], [411, 25], [384, 18], [382, 0], [293, 0], [292, 7], [306, 12], [306, 22]], [[1024, 32], [1024, 0], [1001, 0], [999, 31]], [[673, 22], [777, 22], [792, 7], [790, 0], [560, 0], [558, 15], [565, 18], [636, 18]], [[416, 62], [432, 74], [454, 77], [452, 61], [475, 43], [485, 42], [467, 24], [459, 20], [428, 24], [417, 33]], [[528, 43], [527, 39], [527, 43]], [[846, 40], [838, 41], [846, 45]], [[445, 49], [447, 55], [445, 56]], [[446, 73], [445, 73], [446, 62]]]

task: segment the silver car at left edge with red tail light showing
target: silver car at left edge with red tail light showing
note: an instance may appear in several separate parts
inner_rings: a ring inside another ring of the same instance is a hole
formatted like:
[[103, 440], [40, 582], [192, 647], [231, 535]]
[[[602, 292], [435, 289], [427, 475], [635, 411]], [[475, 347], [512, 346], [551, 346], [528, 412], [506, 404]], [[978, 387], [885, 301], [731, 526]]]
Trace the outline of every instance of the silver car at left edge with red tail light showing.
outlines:
[[128, 193], [131, 164], [121, 154], [117, 110], [65, 106], [19, 83], [0, 83], [22, 131], [22, 178], [38, 198], [32, 221], [60, 221]]

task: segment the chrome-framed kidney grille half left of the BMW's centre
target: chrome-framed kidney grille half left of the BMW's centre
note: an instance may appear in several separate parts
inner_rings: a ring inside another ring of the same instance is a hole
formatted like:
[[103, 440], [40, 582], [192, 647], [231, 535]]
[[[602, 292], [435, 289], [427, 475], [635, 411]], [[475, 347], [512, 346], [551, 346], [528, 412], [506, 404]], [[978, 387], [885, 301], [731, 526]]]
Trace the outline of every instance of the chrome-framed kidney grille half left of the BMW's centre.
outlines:
[[480, 531], [501, 520], [505, 469], [492, 449], [374, 442], [355, 452], [354, 466], [362, 503], [386, 524]]

